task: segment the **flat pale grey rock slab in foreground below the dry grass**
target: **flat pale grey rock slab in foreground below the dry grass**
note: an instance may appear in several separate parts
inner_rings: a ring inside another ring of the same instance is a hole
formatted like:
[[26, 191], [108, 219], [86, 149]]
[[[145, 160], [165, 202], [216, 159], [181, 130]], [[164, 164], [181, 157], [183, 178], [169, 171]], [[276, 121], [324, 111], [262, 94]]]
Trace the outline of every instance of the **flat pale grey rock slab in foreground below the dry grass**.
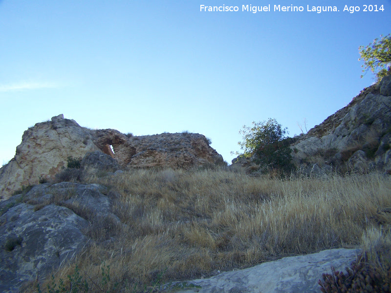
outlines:
[[208, 279], [190, 281], [201, 288], [178, 293], [304, 293], [321, 292], [322, 273], [344, 271], [361, 250], [332, 249], [318, 253], [285, 257], [255, 267], [222, 272]]

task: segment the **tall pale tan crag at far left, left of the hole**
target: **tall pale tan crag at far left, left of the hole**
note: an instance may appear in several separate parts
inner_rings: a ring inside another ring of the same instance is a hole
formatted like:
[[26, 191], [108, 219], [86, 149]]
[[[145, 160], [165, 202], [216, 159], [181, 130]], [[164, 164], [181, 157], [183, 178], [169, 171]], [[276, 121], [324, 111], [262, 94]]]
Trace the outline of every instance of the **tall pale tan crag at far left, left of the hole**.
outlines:
[[7, 199], [23, 186], [54, 179], [66, 167], [68, 157], [82, 159], [99, 150], [90, 130], [63, 115], [37, 123], [24, 131], [15, 157], [0, 169], [0, 197]]

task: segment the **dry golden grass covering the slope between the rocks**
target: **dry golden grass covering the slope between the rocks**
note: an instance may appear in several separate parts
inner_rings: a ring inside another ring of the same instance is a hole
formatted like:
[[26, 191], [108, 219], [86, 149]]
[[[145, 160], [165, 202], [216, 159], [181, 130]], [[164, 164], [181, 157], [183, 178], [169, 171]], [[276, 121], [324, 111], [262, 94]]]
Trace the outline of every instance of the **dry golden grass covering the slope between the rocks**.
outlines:
[[[390, 242], [391, 213], [381, 210], [391, 207], [391, 180], [377, 173], [282, 181], [224, 170], [138, 169], [86, 180], [120, 194], [113, 211], [126, 224], [106, 244], [101, 233], [91, 233], [95, 244], [55, 273], [66, 279], [77, 264], [93, 292], [103, 262], [110, 290], [143, 292], [135, 284], [151, 285], [161, 272], [162, 282], [191, 279], [288, 255], [360, 245], [373, 251]], [[374, 238], [377, 246], [369, 243]]]

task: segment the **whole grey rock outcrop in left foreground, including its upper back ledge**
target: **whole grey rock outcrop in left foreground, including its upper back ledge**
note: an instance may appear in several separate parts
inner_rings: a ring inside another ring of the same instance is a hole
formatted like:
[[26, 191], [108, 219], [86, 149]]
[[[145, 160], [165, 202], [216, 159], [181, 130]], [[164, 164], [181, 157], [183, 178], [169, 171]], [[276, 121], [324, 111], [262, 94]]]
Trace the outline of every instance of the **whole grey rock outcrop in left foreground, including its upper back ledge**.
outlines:
[[45, 183], [1, 202], [0, 291], [44, 279], [93, 242], [96, 231], [110, 241], [123, 224], [106, 192], [96, 184]]

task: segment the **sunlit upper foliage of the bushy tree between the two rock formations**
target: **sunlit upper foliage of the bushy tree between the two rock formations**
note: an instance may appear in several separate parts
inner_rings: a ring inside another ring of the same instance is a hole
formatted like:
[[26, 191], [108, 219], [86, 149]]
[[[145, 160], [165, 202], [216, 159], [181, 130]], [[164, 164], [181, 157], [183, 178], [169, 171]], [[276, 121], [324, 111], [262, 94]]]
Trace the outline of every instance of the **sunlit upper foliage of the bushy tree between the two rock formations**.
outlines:
[[251, 157], [251, 155], [263, 146], [270, 145], [281, 141], [285, 138], [287, 128], [282, 128], [276, 119], [271, 119], [263, 122], [253, 122], [253, 126], [243, 126], [239, 130], [239, 134], [243, 135], [243, 142], [238, 145], [244, 150], [244, 157]]

